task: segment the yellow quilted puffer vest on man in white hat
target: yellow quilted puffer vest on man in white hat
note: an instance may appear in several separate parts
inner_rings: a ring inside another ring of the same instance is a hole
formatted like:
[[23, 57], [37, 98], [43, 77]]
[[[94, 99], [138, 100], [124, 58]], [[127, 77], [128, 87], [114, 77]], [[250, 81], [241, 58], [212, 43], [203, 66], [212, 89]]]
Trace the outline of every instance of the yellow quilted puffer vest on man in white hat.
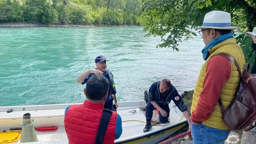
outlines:
[[[241, 71], [244, 68], [244, 65], [245, 65], [244, 54], [241, 50], [241, 47], [237, 44], [236, 39], [230, 38], [230, 39], [224, 40], [223, 42], [217, 44], [211, 50], [209, 50], [210, 56], [207, 58], [206, 62], [203, 64], [199, 77], [196, 82], [192, 105], [191, 105], [191, 113], [193, 112], [193, 110], [196, 109], [197, 101], [199, 100], [200, 93], [203, 90], [203, 83], [204, 83], [204, 78], [206, 74], [207, 64], [211, 57], [221, 52], [230, 54], [237, 61]], [[231, 61], [230, 63], [232, 67], [231, 75], [229, 79], [227, 79], [227, 82], [223, 86], [221, 93], [219, 95], [225, 108], [227, 108], [231, 104], [234, 98], [234, 95], [236, 93], [238, 83], [240, 82], [240, 74], [237, 70], [237, 67]], [[222, 113], [218, 103], [217, 105], [215, 105], [215, 111], [212, 112], [208, 120], [203, 121], [202, 124], [207, 125], [208, 127], [222, 129], [222, 130], [230, 129], [229, 126], [227, 126], [222, 120]]]

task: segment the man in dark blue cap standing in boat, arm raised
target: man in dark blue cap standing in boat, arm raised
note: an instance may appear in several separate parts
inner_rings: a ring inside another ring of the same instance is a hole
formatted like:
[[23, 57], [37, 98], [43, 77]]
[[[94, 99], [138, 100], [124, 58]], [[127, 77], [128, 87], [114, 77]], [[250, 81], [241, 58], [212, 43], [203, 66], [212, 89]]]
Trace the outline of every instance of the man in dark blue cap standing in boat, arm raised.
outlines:
[[116, 106], [116, 108], [118, 108], [117, 99], [116, 99], [116, 86], [114, 84], [113, 74], [107, 69], [107, 62], [106, 61], [108, 61], [108, 60], [106, 60], [106, 58], [103, 55], [99, 55], [98, 57], [96, 57], [95, 58], [95, 63], [96, 63], [97, 68], [90, 69], [90, 70], [82, 73], [76, 79], [76, 82], [84, 84], [94, 74], [104, 75], [109, 81], [108, 98], [105, 101], [104, 108], [112, 110], [113, 109], [113, 100], [115, 102], [114, 105]]

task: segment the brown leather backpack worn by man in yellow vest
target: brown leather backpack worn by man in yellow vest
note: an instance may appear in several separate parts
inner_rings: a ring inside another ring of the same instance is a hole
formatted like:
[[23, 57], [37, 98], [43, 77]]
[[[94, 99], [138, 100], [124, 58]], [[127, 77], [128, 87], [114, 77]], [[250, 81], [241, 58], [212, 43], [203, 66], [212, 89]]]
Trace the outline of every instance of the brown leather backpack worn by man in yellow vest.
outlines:
[[244, 66], [243, 73], [236, 60], [229, 54], [219, 53], [236, 65], [241, 75], [240, 83], [232, 104], [225, 109], [219, 98], [219, 106], [222, 112], [222, 119], [231, 129], [235, 131], [244, 129], [249, 131], [256, 127], [256, 74], [248, 74], [249, 63]]

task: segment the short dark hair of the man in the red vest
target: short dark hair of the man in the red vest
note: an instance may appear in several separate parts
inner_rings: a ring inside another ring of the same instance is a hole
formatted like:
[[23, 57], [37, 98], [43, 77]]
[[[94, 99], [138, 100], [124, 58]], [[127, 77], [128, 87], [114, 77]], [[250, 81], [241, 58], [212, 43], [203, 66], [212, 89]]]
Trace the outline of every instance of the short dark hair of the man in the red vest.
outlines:
[[86, 82], [86, 97], [101, 100], [109, 89], [109, 81], [103, 75], [93, 75]]

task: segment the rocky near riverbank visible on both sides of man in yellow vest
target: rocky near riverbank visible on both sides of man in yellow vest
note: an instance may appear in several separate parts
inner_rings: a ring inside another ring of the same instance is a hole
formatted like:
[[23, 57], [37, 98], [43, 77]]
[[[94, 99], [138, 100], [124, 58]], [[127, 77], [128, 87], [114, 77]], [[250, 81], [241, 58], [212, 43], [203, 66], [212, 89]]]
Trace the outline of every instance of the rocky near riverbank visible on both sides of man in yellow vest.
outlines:
[[[189, 114], [191, 109], [193, 93], [194, 93], [194, 90], [189, 90], [181, 94], [181, 98], [184, 101], [185, 105], [187, 106]], [[167, 139], [180, 135], [181, 133], [184, 133], [187, 131], [188, 131], [188, 124], [185, 127], [181, 128], [176, 133], [174, 133], [172, 136], [168, 137]], [[225, 141], [225, 144], [240, 144], [243, 136], [243, 132], [244, 131], [242, 129], [240, 129], [239, 131], [231, 131], [229, 134], [229, 137]], [[247, 137], [243, 136], [244, 137], [243, 139], [250, 139], [251, 138], [250, 136], [251, 135], [248, 135]], [[180, 139], [174, 140], [169, 144], [192, 144], [192, 143], [193, 141], [188, 136], [185, 136], [185, 137], [181, 137]]]

